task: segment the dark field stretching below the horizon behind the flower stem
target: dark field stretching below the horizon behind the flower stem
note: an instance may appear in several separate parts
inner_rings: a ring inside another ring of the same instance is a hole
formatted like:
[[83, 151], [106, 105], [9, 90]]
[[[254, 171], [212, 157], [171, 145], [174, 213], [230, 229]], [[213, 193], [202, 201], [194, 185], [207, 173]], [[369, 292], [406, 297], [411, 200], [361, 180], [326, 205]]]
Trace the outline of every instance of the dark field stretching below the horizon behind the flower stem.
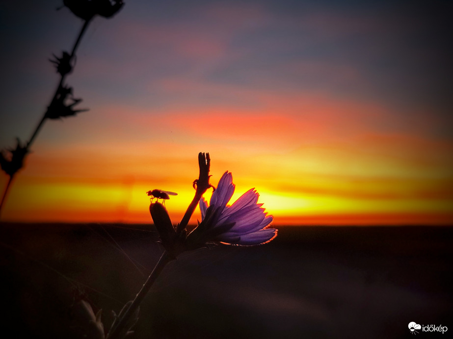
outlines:
[[[3, 224], [0, 237], [7, 338], [82, 338], [75, 291], [109, 328], [162, 251], [149, 225]], [[453, 227], [282, 227], [263, 246], [168, 264], [131, 338], [411, 338], [411, 321], [447, 338], [452, 254]]]

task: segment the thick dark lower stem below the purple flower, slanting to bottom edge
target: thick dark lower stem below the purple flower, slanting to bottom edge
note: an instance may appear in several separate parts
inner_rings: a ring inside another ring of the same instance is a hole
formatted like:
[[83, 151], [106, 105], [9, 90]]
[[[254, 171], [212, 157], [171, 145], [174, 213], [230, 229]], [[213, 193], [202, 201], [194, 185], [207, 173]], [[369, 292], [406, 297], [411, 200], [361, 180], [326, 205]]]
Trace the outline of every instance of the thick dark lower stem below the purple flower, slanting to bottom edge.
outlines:
[[120, 319], [118, 319], [118, 321], [115, 324], [115, 326], [108, 332], [107, 339], [119, 339], [119, 338], [121, 338], [121, 337], [118, 337], [118, 336], [124, 330], [124, 327], [128, 323], [129, 318], [134, 314], [135, 310], [138, 308], [140, 303], [143, 301], [143, 299], [145, 298], [146, 294], [151, 289], [151, 286], [153, 286], [154, 282], [156, 281], [157, 277], [159, 276], [160, 272], [162, 272], [162, 269], [173, 258], [174, 257], [169, 255], [169, 253], [166, 250], [162, 253], [162, 255], [160, 256], [159, 261], [157, 262], [157, 264], [154, 267], [153, 271], [149, 275], [148, 279], [143, 284], [141, 290], [135, 296], [135, 299], [133, 300], [131, 306], [129, 306], [128, 310], [124, 313], [124, 315]]

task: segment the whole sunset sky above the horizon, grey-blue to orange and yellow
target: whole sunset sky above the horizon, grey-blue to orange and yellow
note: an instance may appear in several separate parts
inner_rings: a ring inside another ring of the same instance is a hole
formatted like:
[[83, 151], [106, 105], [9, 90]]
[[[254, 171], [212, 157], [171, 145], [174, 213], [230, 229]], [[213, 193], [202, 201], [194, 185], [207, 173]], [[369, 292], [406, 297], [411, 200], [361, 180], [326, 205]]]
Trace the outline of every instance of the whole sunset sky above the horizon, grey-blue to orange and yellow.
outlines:
[[[0, 148], [53, 96], [48, 59], [82, 25], [62, 2], [0, 4]], [[1, 220], [146, 223], [159, 188], [177, 223], [201, 151], [277, 226], [453, 224], [452, 17], [449, 0], [125, 0], [67, 77], [90, 110], [46, 121]]]

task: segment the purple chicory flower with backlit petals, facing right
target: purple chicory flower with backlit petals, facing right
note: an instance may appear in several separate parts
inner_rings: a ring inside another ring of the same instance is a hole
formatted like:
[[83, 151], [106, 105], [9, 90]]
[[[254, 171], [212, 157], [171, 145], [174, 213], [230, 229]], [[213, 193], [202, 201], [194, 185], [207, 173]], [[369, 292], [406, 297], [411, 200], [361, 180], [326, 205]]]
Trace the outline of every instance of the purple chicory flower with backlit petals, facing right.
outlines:
[[270, 242], [277, 230], [270, 228], [272, 216], [258, 204], [259, 194], [250, 189], [231, 206], [227, 205], [235, 191], [233, 176], [225, 172], [211, 196], [210, 206], [200, 200], [201, 222], [187, 236], [187, 246], [202, 247], [209, 242], [234, 245], [259, 245]]

